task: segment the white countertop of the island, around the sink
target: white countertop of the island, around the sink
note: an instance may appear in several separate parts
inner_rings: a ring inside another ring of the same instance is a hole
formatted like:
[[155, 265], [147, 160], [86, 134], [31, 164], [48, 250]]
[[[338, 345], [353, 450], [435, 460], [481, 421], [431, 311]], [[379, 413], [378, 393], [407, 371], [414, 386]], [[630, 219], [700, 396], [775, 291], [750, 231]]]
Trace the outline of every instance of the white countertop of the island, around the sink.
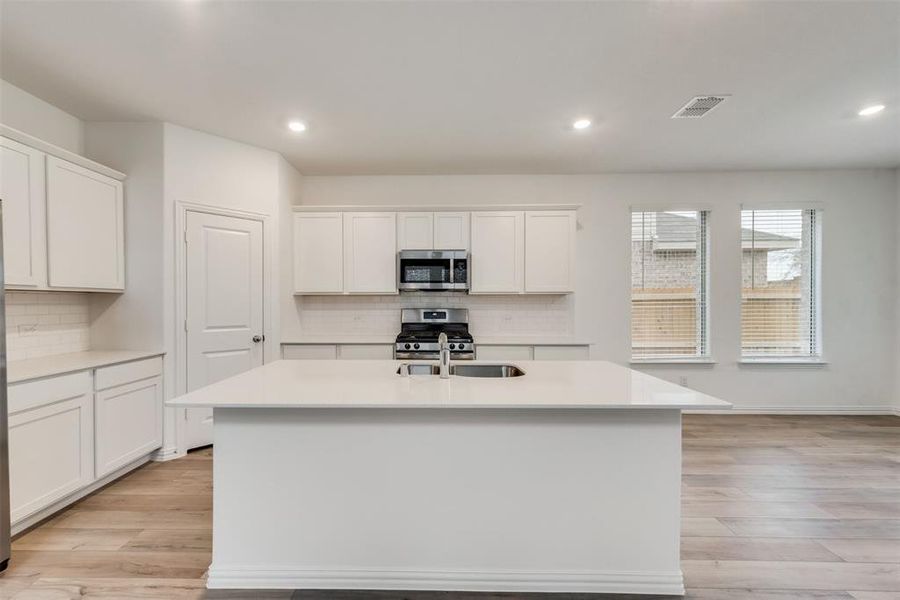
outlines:
[[[421, 361], [411, 361], [421, 362]], [[516, 361], [508, 379], [401, 377], [394, 360], [280, 360], [169, 401], [221, 408], [710, 409], [727, 402], [603, 361]], [[497, 364], [466, 361], [466, 364]]]

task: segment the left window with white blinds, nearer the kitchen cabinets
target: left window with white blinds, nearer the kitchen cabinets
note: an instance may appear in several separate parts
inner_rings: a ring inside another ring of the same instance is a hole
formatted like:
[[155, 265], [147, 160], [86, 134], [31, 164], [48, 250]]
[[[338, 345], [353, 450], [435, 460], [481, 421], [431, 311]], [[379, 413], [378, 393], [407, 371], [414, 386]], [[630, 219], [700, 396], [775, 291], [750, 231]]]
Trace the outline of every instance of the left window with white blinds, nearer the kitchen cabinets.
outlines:
[[631, 356], [706, 358], [708, 214], [631, 213]]

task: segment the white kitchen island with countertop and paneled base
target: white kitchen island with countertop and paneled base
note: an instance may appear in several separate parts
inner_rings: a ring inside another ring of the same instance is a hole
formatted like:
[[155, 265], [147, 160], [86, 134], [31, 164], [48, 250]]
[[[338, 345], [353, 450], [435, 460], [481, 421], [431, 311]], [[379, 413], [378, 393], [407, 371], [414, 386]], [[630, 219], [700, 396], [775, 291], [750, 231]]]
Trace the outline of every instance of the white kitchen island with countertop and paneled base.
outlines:
[[681, 411], [727, 402], [599, 361], [399, 364], [277, 361], [169, 402], [214, 408], [210, 588], [684, 593]]

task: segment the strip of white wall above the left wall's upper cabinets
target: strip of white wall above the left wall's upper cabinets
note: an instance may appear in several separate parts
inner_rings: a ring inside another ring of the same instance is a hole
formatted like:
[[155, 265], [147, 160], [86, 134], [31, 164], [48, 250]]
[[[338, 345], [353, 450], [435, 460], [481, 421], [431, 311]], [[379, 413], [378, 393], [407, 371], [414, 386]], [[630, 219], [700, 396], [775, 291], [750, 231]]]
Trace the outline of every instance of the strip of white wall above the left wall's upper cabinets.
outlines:
[[81, 154], [83, 124], [37, 96], [0, 79], [0, 123]]

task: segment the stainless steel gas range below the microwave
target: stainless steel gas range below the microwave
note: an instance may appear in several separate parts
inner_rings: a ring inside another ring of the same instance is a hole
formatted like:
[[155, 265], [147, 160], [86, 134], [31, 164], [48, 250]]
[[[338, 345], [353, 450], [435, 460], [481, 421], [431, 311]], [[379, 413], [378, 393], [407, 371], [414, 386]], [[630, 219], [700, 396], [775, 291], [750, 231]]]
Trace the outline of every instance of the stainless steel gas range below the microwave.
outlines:
[[465, 308], [404, 308], [400, 311], [400, 334], [394, 345], [394, 357], [438, 360], [441, 333], [447, 334], [452, 360], [475, 358], [469, 311]]

